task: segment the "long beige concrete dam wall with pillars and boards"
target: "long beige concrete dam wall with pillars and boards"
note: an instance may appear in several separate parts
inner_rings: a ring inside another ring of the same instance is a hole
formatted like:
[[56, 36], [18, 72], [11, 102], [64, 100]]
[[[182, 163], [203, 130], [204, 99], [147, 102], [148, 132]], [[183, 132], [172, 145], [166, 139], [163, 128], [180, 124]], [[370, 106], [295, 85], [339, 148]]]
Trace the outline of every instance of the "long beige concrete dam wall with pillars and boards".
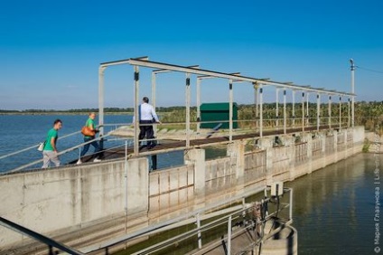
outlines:
[[[138, 157], [2, 175], [0, 216], [80, 250], [260, 192], [275, 181], [292, 181], [360, 153], [363, 141], [364, 127], [354, 127], [235, 141], [227, 145], [227, 156], [212, 160], [194, 148], [185, 151], [184, 165], [151, 173], [148, 158]], [[34, 243], [0, 226], [0, 254], [38, 253]]]

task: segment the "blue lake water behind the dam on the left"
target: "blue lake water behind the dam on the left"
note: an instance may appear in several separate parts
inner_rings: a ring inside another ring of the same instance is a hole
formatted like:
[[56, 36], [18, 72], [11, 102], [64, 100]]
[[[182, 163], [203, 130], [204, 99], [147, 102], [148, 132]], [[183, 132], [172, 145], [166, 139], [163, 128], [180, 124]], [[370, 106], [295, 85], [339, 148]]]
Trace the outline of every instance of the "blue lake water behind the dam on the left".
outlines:
[[[45, 140], [47, 132], [53, 127], [56, 118], [62, 120], [62, 128], [59, 131], [57, 142], [59, 152], [83, 142], [83, 136], [80, 133], [70, 137], [66, 136], [78, 132], [85, 125], [88, 119], [87, 115], [0, 115], [0, 157], [33, 145], [36, 146], [23, 153], [0, 158], [0, 173], [42, 159], [42, 152], [37, 151], [37, 145]], [[95, 119], [95, 122], [98, 123], [98, 118]], [[130, 115], [106, 115], [104, 116], [104, 123], [111, 126], [105, 127], [104, 133], [107, 134], [108, 131], [119, 127], [121, 124], [127, 125], [131, 122], [132, 116]], [[125, 146], [126, 139], [116, 139], [117, 137], [108, 137], [104, 146], [107, 148]], [[132, 146], [130, 139], [127, 142]], [[89, 153], [91, 152], [93, 152], [92, 146], [89, 148]], [[79, 149], [61, 155], [61, 165], [68, 164], [78, 157]], [[163, 154], [158, 156], [157, 161], [159, 168], [180, 165], [183, 162], [183, 153], [180, 151]], [[41, 165], [42, 163], [39, 163], [29, 168], [40, 168]]]

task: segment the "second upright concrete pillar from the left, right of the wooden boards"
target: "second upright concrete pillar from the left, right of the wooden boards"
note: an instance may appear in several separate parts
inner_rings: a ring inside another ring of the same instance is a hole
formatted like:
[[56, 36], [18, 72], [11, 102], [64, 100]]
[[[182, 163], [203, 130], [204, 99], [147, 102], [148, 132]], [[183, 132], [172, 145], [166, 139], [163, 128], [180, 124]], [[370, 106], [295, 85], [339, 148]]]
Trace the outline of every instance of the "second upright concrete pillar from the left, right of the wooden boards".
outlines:
[[237, 184], [243, 184], [243, 176], [245, 175], [245, 145], [242, 141], [230, 143], [227, 154], [230, 157], [231, 167], [235, 169]]

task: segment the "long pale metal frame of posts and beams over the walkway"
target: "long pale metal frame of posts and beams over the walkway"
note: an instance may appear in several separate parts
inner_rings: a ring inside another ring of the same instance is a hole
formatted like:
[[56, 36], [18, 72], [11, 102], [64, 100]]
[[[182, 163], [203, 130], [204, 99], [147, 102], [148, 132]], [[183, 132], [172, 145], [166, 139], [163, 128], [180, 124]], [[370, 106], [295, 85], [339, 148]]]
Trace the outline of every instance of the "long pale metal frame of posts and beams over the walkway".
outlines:
[[[354, 123], [354, 116], [353, 116], [353, 99], [355, 97], [355, 94], [353, 93], [353, 89], [351, 93], [348, 92], [341, 92], [341, 91], [336, 91], [336, 90], [324, 90], [324, 89], [317, 89], [317, 88], [312, 88], [310, 86], [299, 86], [295, 85], [292, 82], [279, 82], [279, 81], [274, 81], [274, 80], [269, 80], [269, 79], [257, 79], [257, 78], [252, 78], [252, 77], [246, 77], [246, 76], [241, 76], [238, 73], [225, 73], [225, 72], [220, 72], [220, 71], [210, 71], [210, 70], [203, 70], [203, 69], [198, 69], [195, 66], [181, 66], [181, 65], [174, 65], [174, 64], [169, 64], [169, 63], [164, 63], [164, 62], [157, 62], [157, 61], [149, 61], [148, 57], [142, 57], [142, 58], [131, 58], [131, 59], [126, 59], [126, 60], [120, 60], [120, 61], [108, 61], [108, 62], [103, 62], [100, 64], [99, 69], [98, 69], [98, 108], [99, 108], [99, 127], [100, 128], [100, 136], [104, 135], [104, 130], [102, 128], [104, 124], [104, 74], [105, 70], [107, 67], [111, 67], [114, 65], [120, 65], [120, 64], [129, 64], [134, 67], [134, 90], [135, 90], [135, 99], [134, 99], [134, 104], [135, 104], [135, 119], [138, 119], [138, 105], [139, 105], [139, 67], [144, 67], [144, 68], [151, 68], [154, 69], [152, 73], [152, 98], [155, 106], [155, 73], [158, 72], [164, 72], [164, 71], [178, 71], [178, 72], [183, 72], [186, 74], [186, 89], [185, 89], [185, 106], [186, 106], [186, 147], [190, 146], [190, 140], [188, 136], [188, 132], [190, 131], [190, 80], [191, 80], [191, 75], [197, 75], [197, 110], [199, 110], [199, 104], [201, 103], [201, 79], [204, 78], [220, 78], [220, 79], [225, 79], [229, 80], [229, 141], [231, 141], [232, 137], [232, 109], [231, 106], [233, 104], [233, 82], [249, 82], [251, 85], [254, 86], [256, 90], [256, 104], [258, 103], [257, 101], [257, 90], [259, 90], [259, 112], [260, 112], [260, 118], [259, 118], [259, 133], [260, 137], [262, 137], [262, 130], [263, 130], [263, 114], [262, 114], [262, 105], [263, 105], [263, 86], [275, 86], [276, 87], [276, 95], [278, 95], [278, 90], [284, 90], [284, 132], [286, 128], [286, 116], [285, 116], [285, 95], [286, 95], [286, 90], [302, 90], [305, 95], [306, 95], [306, 113], [307, 113], [307, 121], [309, 121], [309, 116], [308, 116], [308, 103], [309, 103], [309, 93], [316, 93], [317, 94], [317, 118], [319, 115], [319, 104], [320, 104], [320, 95], [322, 93], [327, 94], [329, 96], [332, 95], [338, 95], [340, 97], [349, 97], [352, 99], [352, 126]], [[353, 65], [352, 65], [353, 66]], [[256, 86], [257, 85], [257, 86]], [[257, 88], [256, 88], [257, 87]], [[294, 92], [293, 92], [294, 94]], [[303, 94], [304, 95], [304, 94]], [[276, 103], [278, 101], [276, 100]], [[304, 107], [304, 100], [303, 100], [303, 107]], [[341, 114], [341, 102], [340, 102], [340, 114]], [[276, 112], [276, 115], [278, 115], [278, 112]], [[199, 114], [197, 114], [197, 118], [199, 118]], [[340, 117], [341, 118], [341, 117]], [[304, 121], [304, 109], [303, 109], [303, 121]], [[341, 122], [341, 119], [340, 119]], [[317, 123], [319, 125], [319, 119], [317, 119]], [[308, 124], [308, 122], [307, 122]], [[139, 124], [137, 121], [134, 123], [135, 127], [135, 140], [138, 137], [138, 130], [139, 130]], [[304, 124], [303, 124], [303, 130], [304, 130]], [[138, 143], [135, 142], [134, 145], [134, 156], [138, 156]]]

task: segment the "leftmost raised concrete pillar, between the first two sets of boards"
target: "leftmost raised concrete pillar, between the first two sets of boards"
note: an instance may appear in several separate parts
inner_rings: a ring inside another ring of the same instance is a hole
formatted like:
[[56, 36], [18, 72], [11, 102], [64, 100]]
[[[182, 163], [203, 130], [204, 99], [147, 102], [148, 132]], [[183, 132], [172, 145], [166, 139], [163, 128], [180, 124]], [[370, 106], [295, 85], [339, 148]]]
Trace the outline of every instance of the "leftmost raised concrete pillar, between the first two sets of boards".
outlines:
[[194, 165], [194, 192], [197, 195], [205, 195], [205, 150], [193, 148], [187, 150], [184, 156], [186, 165]]

